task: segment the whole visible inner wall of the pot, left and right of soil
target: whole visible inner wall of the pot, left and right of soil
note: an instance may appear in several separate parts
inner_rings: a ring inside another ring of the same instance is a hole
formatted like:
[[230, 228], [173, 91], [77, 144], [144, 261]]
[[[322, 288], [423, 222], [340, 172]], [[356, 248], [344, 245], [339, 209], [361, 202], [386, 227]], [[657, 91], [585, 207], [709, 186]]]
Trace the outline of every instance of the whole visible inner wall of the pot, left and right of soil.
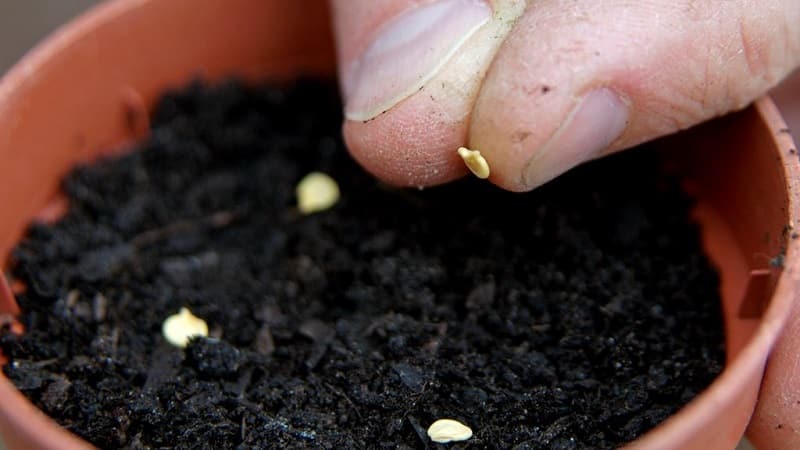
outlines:
[[[164, 89], [198, 76], [333, 73], [324, 0], [138, 0], [100, 9], [0, 84], [0, 263], [48, 204], [52, 215], [59, 179], [73, 164], [146, 132]], [[662, 144], [667, 166], [701, 198], [697, 218], [721, 269], [730, 360], [755, 332], [780, 271], [784, 168], [756, 108]], [[17, 312], [0, 277], [0, 314]]]

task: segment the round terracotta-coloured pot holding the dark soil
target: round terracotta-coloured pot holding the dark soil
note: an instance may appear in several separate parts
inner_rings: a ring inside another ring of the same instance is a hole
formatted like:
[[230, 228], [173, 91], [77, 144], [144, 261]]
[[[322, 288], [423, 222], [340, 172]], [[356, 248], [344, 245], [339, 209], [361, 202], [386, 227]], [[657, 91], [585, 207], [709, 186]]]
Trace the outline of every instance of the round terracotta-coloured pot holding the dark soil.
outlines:
[[[71, 165], [146, 133], [148, 109], [163, 89], [196, 76], [286, 78], [330, 75], [333, 67], [323, 0], [118, 0], [94, 9], [0, 82], [0, 261], [32, 218], [63, 209], [56, 191]], [[787, 226], [798, 218], [798, 191], [788, 180], [800, 166], [784, 128], [762, 99], [662, 142], [669, 167], [699, 199], [696, 216], [721, 271], [728, 364], [631, 448], [732, 448], [750, 420], [798, 289], [798, 245]], [[771, 264], [778, 255], [784, 269]], [[0, 277], [0, 314], [17, 312]], [[88, 445], [2, 376], [0, 433], [11, 449]]]

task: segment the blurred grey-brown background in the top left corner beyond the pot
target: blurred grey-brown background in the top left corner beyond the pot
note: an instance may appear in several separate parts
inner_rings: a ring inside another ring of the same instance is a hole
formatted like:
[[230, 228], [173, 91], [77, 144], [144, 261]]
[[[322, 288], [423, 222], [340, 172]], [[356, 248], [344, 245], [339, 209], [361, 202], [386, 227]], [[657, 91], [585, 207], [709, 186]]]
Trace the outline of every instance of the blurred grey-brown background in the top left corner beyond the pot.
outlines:
[[0, 74], [43, 37], [101, 0], [0, 0]]

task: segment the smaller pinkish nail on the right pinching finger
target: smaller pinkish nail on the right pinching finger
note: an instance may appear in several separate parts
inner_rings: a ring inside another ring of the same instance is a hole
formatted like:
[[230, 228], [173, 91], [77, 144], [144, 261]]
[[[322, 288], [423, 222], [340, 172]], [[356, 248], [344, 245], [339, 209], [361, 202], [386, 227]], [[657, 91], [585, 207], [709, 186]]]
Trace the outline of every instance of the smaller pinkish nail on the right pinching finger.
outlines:
[[628, 105], [614, 91], [591, 91], [528, 162], [525, 184], [533, 189], [596, 158], [625, 131], [628, 116]]

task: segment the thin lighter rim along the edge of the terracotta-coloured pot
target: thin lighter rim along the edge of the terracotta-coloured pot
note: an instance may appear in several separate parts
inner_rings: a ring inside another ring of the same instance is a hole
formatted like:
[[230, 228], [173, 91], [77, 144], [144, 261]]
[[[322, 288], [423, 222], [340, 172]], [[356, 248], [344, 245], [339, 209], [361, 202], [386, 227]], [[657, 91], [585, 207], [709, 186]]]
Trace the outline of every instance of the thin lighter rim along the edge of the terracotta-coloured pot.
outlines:
[[[90, 8], [76, 19], [61, 26], [50, 34], [42, 43], [25, 54], [11, 70], [0, 77], [0, 116], [8, 105], [20, 95], [25, 87], [32, 83], [36, 74], [46, 68], [51, 58], [84, 39], [100, 23], [114, 21], [132, 10], [141, 8], [155, 0], [109, 0]], [[800, 185], [791, 180], [800, 179], [800, 160], [790, 154], [794, 149], [791, 135], [786, 133], [786, 124], [777, 107], [769, 97], [755, 102], [758, 119], [770, 131], [775, 148], [781, 159], [784, 176], [787, 180], [789, 227], [794, 227], [800, 218]], [[0, 256], [7, 249], [0, 248]], [[0, 268], [4, 265], [0, 261]], [[701, 417], [708, 416], [724, 403], [727, 392], [740, 391], [746, 384], [747, 377], [737, 373], [762, 371], [763, 361], [776, 342], [783, 326], [788, 320], [793, 302], [793, 292], [800, 281], [798, 273], [800, 263], [800, 240], [787, 239], [784, 269], [778, 275], [778, 281], [769, 305], [759, 321], [758, 327], [741, 352], [728, 364], [703, 392], [691, 402], [670, 416], [665, 422], [647, 432], [629, 444], [627, 448], [661, 448], [659, 444], [672, 441], [676, 434], [692, 434], [703, 427]], [[13, 294], [5, 277], [0, 277], [0, 306], [12, 308], [16, 306]], [[14, 309], [9, 309], [14, 310]], [[18, 311], [18, 309], [16, 309]], [[0, 371], [0, 435], [7, 443], [24, 430], [23, 434], [36, 436], [42, 448], [91, 448], [86, 441], [79, 439], [38, 410]]]

